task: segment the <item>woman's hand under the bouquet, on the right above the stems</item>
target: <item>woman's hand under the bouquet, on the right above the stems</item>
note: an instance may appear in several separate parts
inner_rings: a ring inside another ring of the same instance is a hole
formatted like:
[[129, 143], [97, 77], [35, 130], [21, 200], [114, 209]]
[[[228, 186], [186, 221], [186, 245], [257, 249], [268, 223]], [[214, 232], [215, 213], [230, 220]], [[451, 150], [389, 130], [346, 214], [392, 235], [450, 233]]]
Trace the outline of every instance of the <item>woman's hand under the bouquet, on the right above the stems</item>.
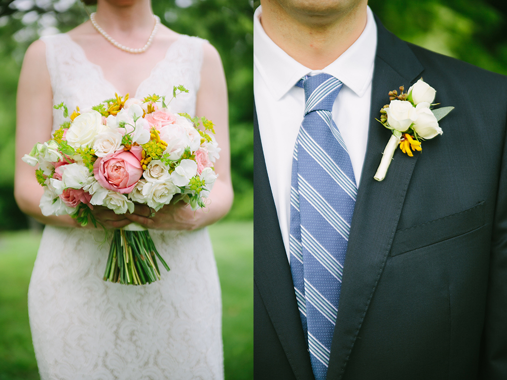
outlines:
[[147, 205], [136, 204], [132, 214], [125, 216], [130, 221], [153, 230], [195, 230], [201, 225], [200, 213], [194, 212], [189, 204], [177, 202], [152, 212]]

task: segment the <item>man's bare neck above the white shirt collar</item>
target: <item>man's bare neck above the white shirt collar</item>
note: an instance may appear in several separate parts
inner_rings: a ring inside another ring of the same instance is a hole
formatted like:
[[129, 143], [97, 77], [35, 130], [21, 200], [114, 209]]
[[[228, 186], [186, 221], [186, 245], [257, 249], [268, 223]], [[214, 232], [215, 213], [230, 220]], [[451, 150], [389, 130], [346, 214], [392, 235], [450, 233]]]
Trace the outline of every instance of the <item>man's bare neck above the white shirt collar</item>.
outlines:
[[261, 0], [261, 23], [285, 53], [302, 65], [319, 70], [334, 62], [361, 35], [366, 26], [367, 3]]

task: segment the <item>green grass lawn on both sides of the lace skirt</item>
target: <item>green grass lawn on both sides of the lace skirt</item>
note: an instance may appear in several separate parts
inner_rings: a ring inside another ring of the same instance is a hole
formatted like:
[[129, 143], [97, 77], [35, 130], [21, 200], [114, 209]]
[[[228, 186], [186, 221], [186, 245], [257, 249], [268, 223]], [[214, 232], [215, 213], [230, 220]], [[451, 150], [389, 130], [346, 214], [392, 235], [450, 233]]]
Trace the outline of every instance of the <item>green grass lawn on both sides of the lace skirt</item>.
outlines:
[[[222, 284], [226, 380], [253, 378], [253, 223], [209, 227]], [[0, 380], [39, 379], [26, 294], [40, 234], [0, 234]]]

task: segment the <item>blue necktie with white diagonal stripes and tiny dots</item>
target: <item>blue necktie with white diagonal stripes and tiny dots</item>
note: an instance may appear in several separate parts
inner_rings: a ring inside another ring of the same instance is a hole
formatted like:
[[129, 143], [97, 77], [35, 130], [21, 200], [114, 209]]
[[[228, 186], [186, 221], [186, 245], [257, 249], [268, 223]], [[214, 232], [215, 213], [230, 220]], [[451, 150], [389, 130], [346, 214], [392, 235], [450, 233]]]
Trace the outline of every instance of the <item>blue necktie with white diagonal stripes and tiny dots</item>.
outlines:
[[305, 77], [305, 116], [296, 139], [291, 183], [291, 272], [316, 380], [328, 371], [357, 186], [331, 116], [342, 83]]

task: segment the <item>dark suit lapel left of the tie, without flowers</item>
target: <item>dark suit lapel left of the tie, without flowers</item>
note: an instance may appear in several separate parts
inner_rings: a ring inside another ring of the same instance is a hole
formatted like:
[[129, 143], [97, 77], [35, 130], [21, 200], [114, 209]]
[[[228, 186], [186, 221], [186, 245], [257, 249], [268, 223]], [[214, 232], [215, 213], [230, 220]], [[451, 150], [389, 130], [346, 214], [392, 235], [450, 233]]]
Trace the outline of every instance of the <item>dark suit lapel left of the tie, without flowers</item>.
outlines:
[[291, 268], [285, 254], [259, 124], [254, 125], [253, 160], [253, 280], [298, 380], [313, 379], [308, 347], [299, 316]]

